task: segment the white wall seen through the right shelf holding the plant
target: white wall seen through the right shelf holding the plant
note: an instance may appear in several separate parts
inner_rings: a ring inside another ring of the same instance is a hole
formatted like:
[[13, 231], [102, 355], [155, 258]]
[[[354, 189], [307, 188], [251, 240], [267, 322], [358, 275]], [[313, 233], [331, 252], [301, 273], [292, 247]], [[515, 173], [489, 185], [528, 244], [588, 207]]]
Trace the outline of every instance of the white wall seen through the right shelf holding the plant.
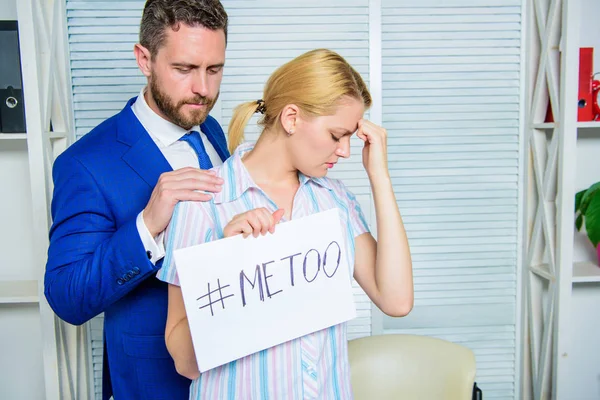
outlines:
[[[600, 72], [600, 1], [582, 0], [580, 47], [594, 47], [594, 71]], [[596, 79], [600, 78], [597, 76]], [[577, 191], [600, 181], [600, 129], [580, 130], [577, 142]], [[597, 261], [585, 233], [575, 232], [574, 261]], [[572, 399], [600, 398], [600, 283], [573, 285], [571, 300]]]

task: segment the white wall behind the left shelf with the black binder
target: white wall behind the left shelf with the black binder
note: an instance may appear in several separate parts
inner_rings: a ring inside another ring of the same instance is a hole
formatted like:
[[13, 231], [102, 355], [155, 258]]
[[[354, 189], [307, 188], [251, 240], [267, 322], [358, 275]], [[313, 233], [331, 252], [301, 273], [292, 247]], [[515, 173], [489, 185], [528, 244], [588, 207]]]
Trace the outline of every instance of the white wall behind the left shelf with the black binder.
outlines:
[[[16, 0], [0, 0], [0, 20], [16, 19]], [[36, 279], [25, 140], [0, 140], [0, 188], [0, 281]], [[44, 399], [37, 304], [0, 304], [0, 327], [0, 399]]]

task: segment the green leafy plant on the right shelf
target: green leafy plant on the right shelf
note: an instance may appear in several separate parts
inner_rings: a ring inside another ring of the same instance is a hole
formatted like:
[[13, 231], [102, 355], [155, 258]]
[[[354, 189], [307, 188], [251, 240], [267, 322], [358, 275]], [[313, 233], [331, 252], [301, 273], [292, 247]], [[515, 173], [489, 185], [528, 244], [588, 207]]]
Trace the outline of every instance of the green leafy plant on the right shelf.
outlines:
[[585, 225], [590, 242], [598, 247], [600, 242], [600, 182], [575, 195], [575, 226], [578, 231]]

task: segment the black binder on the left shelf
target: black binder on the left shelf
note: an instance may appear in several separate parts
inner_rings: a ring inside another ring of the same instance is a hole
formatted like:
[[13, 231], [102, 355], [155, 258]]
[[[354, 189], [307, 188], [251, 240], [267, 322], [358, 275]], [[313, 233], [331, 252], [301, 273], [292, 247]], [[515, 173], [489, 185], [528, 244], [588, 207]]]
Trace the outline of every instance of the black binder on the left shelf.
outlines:
[[25, 104], [17, 21], [0, 21], [0, 132], [24, 133]]

